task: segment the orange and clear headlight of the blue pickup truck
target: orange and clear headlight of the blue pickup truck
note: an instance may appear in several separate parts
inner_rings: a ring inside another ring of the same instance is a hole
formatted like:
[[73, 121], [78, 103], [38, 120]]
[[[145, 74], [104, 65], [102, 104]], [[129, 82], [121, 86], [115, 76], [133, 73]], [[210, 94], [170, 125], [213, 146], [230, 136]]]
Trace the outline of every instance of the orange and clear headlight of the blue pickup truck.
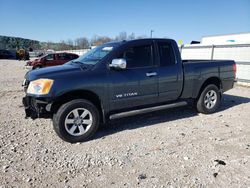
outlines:
[[46, 95], [49, 93], [54, 80], [38, 79], [31, 81], [27, 90], [29, 94]]

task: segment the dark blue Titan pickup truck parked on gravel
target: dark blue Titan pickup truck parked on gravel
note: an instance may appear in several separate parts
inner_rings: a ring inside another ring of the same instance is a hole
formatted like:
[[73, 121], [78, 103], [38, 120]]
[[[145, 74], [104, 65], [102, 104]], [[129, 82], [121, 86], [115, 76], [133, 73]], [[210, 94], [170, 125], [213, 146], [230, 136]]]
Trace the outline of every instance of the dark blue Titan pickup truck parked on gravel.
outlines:
[[51, 118], [60, 138], [89, 139], [100, 124], [190, 104], [215, 112], [233, 88], [231, 60], [181, 60], [171, 39], [107, 43], [62, 66], [25, 76], [26, 117]]

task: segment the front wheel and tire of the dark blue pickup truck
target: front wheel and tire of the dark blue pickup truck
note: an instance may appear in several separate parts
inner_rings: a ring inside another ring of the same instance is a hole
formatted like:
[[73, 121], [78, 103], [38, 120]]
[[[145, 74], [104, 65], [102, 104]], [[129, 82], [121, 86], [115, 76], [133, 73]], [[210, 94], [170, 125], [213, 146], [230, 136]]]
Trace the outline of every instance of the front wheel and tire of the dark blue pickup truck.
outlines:
[[53, 127], [63, 140], [84, 142], [99, 127], [99, 112], [88, 100], [75, 99], [63, 104], [53, 116]]

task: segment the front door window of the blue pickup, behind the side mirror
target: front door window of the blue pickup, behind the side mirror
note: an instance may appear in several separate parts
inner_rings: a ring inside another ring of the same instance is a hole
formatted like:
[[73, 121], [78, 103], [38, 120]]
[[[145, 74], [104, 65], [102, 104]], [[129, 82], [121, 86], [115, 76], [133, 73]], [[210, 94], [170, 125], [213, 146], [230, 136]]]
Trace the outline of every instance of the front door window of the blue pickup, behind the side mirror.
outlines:
[[125, 50], [118, 58], [124, 58], [127, 61], [127, 68], [139, 68], [153, 66], [152, 46], [135, 46]]

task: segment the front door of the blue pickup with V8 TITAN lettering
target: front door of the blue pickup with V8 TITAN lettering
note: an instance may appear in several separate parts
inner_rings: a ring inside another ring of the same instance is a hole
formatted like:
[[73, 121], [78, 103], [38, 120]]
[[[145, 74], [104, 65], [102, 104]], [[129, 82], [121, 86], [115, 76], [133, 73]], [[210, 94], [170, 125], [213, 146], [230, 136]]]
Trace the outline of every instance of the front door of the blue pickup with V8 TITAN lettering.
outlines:
[[158, 85], [152, 42], [127, 46], [114, 58], [124, 58], [125, 70], [110, 69], [110, 110], [157, 102]]

